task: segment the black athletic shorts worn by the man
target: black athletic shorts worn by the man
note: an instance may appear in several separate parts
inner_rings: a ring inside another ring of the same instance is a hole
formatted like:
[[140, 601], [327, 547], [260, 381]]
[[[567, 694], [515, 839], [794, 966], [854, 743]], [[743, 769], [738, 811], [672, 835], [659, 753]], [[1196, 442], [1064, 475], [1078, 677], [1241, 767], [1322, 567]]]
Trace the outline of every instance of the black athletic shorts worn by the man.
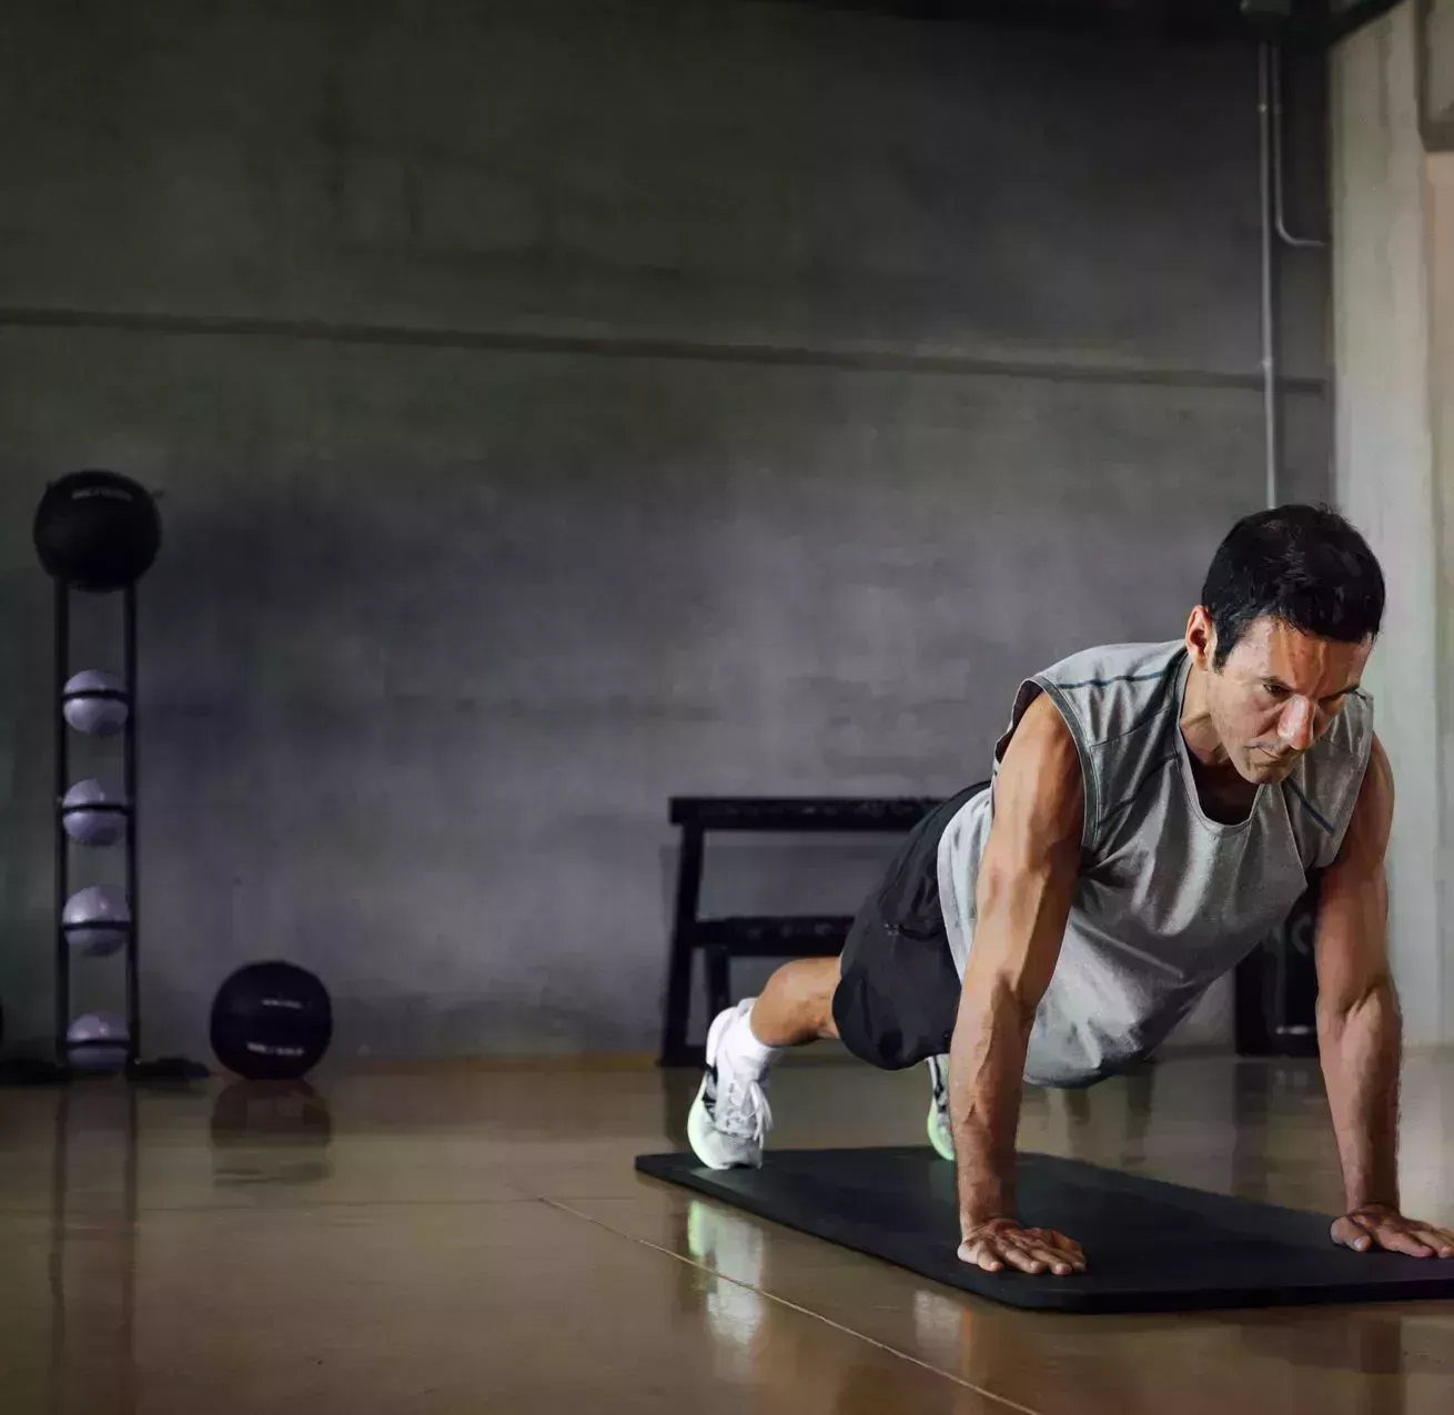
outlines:
[[961, 985], [939, 907], [939, 838], [987, 787], [967, 787], [909, 832], [848, 931], [833, 1022], [853, 1056], [883, 1070], [949, 1050]]

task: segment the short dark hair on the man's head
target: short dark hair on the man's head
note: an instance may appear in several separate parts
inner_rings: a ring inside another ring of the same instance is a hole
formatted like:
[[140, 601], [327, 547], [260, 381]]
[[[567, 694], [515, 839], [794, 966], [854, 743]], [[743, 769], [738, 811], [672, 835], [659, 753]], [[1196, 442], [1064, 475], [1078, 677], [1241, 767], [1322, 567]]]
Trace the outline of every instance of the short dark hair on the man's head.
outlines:
[[1226, 666], [1264, 615], [1317, 638], [1358, 644], [1383, 622], [1383, 570], [1368, 542], [1328, 506], [1278, 506], [1243, 516], [1217, 547], [1201, 588]]

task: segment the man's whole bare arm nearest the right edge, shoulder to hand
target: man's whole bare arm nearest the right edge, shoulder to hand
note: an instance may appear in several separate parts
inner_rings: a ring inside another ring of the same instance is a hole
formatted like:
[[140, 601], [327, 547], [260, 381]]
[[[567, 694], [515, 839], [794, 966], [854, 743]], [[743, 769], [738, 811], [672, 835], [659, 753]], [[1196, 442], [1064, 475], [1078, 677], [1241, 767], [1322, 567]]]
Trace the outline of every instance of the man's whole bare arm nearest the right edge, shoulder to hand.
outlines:
[[1348, 1204], [1332, 1236], [1359, 1251], [1448, 1258], [1454, 1233], [1399, 1211], [1402, 1024], [1384, 875], [1391, 825], [1393, 772], [1374, 739], [1342, 849], [1323, 877], [1314, 937], [1317, 1044]]

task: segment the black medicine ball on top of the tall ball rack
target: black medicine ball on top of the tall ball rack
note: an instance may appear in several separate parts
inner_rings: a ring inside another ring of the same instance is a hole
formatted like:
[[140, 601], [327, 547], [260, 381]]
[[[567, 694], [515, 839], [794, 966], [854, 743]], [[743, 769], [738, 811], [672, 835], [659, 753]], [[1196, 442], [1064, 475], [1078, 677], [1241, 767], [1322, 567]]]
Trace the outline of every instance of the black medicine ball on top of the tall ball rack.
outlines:
[[73, 471], [41, 497], [35, 548], [57, 580], [77, 589], [125, 589], [161, 548], [157, 503], [115, 471]]

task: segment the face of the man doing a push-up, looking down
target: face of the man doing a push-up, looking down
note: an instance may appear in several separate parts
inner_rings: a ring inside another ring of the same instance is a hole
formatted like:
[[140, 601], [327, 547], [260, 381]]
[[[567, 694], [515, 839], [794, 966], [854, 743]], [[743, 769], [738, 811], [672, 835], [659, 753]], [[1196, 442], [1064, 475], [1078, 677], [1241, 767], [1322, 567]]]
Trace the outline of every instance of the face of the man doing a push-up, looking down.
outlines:
[[1281, 620], [1256, 620], [1220, 672], [1211, 670], [1217, 637], [1204, 611], [1192, 614], [1188, 644], [1207, 673], [1207, 708], [1237, 774], [1281, 781], [1342, 711], [1362, 679], [1373, 640], [1341, 644], [1300, 634]]

